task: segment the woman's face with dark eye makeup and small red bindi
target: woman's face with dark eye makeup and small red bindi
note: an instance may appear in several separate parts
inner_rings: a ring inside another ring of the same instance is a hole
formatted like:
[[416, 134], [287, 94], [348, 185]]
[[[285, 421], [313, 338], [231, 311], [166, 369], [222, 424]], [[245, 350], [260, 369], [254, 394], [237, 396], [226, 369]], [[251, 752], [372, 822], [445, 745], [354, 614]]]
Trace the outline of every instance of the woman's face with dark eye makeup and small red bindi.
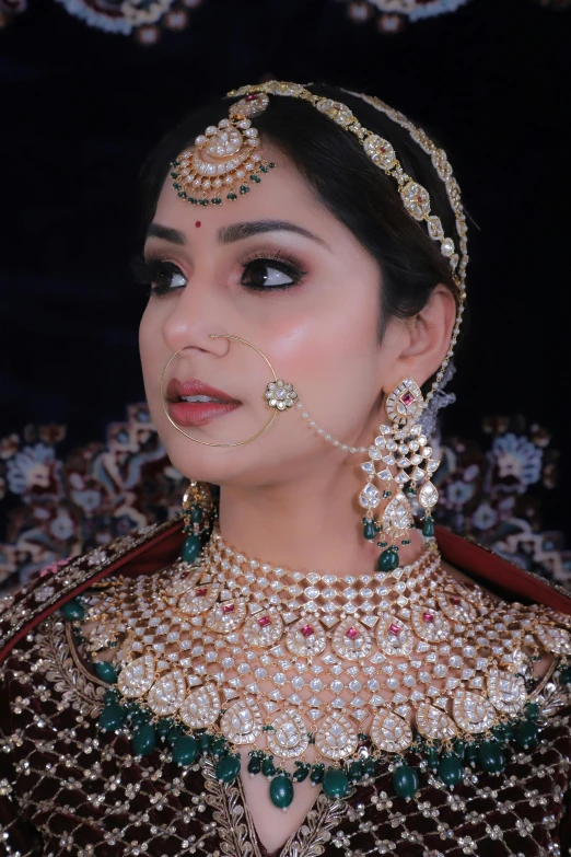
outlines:
[[208, 443], [245, 440], [272, 413], [264, 397], [272, 380], [264, 359], [210, 334], [259, 348], [317, 426], [351, 445], [372, 442], [381, 391], [403, 380], [393, 359], [403, 326], [389, 325], [378, 344], [376, 262], [283, 155], [266, 155], [276, 169], [247, 196], [220, 207], [190, 206], [167, 181], [144, 247], [153, 287], [161, 289], [149, 298], [140, 325], [152, 418], [174, 466], [218, 485], [299, 479], [329, 464], [331, 454], [342, 456], [298, 408], [278, 413], [250, 443], [194, 443], [171, 425], [161, 402], [161, 373], [175, 351], [183, 349], [165, 374], [165, 396], [178, 399], [206, 387], [214, 397], [213, 387], [226, 399], [225, 406], [168, 406], [184, 431]]

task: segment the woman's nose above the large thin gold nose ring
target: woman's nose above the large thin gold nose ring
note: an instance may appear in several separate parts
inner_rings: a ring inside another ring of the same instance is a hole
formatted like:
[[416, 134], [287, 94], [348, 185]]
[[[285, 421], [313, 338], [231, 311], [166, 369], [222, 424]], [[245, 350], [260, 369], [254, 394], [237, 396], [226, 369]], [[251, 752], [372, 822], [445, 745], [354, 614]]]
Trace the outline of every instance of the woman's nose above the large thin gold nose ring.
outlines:
[[212, 333], [223, 333], [229, 308], [206, 279], [194, 277], [163, 322], [163, 338], [171, 351], [206, 351], [223, 357], [229, 349], [228, 339], [212, 338]]

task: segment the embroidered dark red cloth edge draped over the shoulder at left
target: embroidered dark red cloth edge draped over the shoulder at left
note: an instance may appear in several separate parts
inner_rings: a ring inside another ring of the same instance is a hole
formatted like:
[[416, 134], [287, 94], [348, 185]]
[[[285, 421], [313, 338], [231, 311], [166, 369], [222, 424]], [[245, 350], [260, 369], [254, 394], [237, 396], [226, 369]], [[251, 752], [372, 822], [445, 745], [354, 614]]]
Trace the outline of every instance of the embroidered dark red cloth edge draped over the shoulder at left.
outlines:
[[120, 536], [85, 554], [54, 563], [0, 598], [0, 663], [32, 628], [107, 575], [150, 572], [175, 559], [183, 542], [179, 518]]

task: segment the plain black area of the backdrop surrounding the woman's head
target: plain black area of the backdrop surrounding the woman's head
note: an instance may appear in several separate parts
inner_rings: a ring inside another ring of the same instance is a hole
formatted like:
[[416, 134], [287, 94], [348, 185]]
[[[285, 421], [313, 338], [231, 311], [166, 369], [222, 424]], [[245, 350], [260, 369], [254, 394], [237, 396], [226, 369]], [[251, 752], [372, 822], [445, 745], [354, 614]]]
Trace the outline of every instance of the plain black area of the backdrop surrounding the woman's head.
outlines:
[[[203, 0], [143, 47], [53, 0], [0, 33], [0, 433], [66, 422], [101, 440], [143, 398], [137, 176], [195, 105], [263, 76], [380, 95], [434, 131], [471, 216], [469, 332], [448, 431], [523, 413], [569, 438], [571, 12], [473, 0], [387, 36], [331, 0]], [[475, 225], [477, 224], [477, 227]], [[569, 532], [561, 487], [545, 524]]]

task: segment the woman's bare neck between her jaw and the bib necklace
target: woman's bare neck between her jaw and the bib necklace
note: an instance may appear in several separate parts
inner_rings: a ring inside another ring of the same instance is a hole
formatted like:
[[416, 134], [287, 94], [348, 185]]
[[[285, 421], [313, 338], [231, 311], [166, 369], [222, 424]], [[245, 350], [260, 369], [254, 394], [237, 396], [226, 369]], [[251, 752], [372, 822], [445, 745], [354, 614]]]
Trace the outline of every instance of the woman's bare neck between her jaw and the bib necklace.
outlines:
[[[354, 471], [354, 472], [353, 472]], [[383, 548], [362, 535], [364, 510], [357, 502], [365, 479], [357, 467], [331, 468], [302, 483], [220, 493], [220, 532], [237, 551], [261, 563], [292, 570], [340, 577], [376, 569]], [[384, 505], [375, 512], [382, 516]], [[422, 535], [411, 530], [409, 545], [399, 545], [400, 565], [415, 561]]]

